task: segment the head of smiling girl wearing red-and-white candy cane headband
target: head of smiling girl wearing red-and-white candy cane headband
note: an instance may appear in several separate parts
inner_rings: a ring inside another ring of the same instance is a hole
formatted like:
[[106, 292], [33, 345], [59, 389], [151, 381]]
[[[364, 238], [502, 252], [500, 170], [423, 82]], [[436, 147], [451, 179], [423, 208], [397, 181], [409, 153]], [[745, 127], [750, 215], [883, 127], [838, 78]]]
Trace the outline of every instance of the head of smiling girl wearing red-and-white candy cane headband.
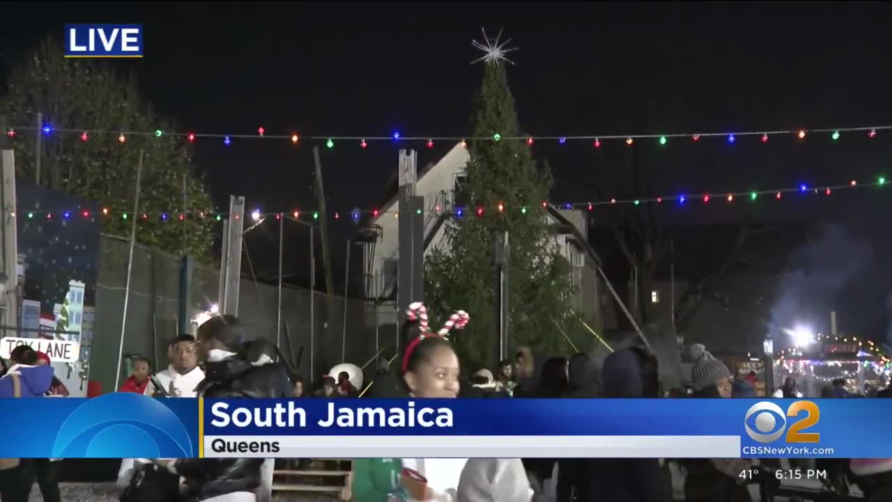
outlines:
[[402, 326], [408, 340], [402, 356], [401, 374], [413, 397], [458, 397], [458, 356], [449, 342], [450, 330], [461, 330], [469, 321], [467, 312], [450, 315], [434, 332], [428, 326], [427, 309], [420, 302], [409, 305]]

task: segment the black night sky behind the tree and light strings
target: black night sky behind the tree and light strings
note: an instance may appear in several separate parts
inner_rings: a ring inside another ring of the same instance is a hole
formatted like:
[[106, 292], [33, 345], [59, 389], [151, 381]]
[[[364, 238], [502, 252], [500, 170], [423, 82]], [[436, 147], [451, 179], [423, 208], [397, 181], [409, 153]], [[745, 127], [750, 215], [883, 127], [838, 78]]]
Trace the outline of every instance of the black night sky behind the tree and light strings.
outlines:
[[[404, 136], [462, 136], [482, 74], [479, 65], [469, 64], [478, 57], [470, 42], [480, 38], [482, 27], [491, 35], [504, 29], [512, 46], [520, 47], [512, 54], [516, 67], [509, 79], [521, 124], [534, 136], [842, 128], [892, 121], [888, 4], [70, 5], [4, 4], [0, 46], [7, 60], [0, 57], [0, 71], [39, 38], [61, 37], [66, 22], [142, 23], [145, 58], [115, 64], [136, 69], [157, 110], [196, 132], [252, 134], [262, 125], [270, 134], [361, 137], [399, 130]], [[863, 134], [844, 136], [844, 147], [835, 149], [829, 138], [812, 137], [807, 145], [772, 138], [773, 150], [759, 150], [755, 138], [733, 148], [711, 140], [698, 153], [690, 141], [675, 146], [673, 140], [663, 154], [650, 145], [640, 157], [651, 177], [647, 193], [622, 180], [627, 171], [622, 142], [597, 154], [587, 142], [537, 142], [534, 148], [555, 174], [553, 199], [584, 202], [608, 194], [747, 191], [875, 179], [892, 158], [892, 130], [886, 136], [872, 143]], [[379, 204], [399, 147], [387, 141], [362, 150], [340, 142], [324, 151], [330, 211]], [[448, 145], [416, 147], [421, 168]], [[221, 207], [229, 194], [244, 195], [249, 206], [269, 211], [315, 207], [309, 144], [245, 139], [225, 147], [209, 139], [196, 150], [196, 162], [208, 173]], [[832, 209], [849, 211], [855, 210]], [[746, 217], [770, 219], [778, 213], [783, 212]], [[862, 214], [853, 218], [863, 220]], [[739, 216], [723, 213], [731, 220]], [[698, 218], [688, 221], [704, 222]], [[883, 233], [881, 224], [864, 231]], [[266, 244], [252, 242], [256, 261], [263, 261], [265, 249], [275, 249], [276, 232], [267, 230]], [[333, 257], [342, 263], [343, 244], [337, 243], [352, 228], [335, 222], [333, 232]], [[871, 243], [871, 254], [881, 255], [887, 245], [888, 238]], [[302, 246], [293, 238], [286, 242], [293, 251], [286, 254], [301, 253], [297, 247]], [[888, 287], [874, 289], [888, 295]], [[884, 303], [885, 298], [875, 308], [892, 306]]]

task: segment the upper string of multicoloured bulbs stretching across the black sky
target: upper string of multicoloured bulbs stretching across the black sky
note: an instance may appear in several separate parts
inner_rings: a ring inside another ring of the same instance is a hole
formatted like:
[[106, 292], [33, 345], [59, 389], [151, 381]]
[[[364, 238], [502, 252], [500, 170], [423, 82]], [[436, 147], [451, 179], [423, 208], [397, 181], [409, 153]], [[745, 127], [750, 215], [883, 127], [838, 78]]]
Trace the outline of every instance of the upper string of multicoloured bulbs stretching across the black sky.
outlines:
[[767, 143], [768, 139], [771, 136], [780, 136], [780, 135], [794, 135], [800, 140], [804, 140], [810, 134], [830, 134], [830, 138], [833, 140], [839, 139], [843, 133], [862, 133], [866, 134], [868, 138], [875, 138], [881, 130], [892, 130], [892, 125], [879, 125], [879, 126], [857, 126], [857, 127], [842, 127], [842, 128], [820, 128], [813, 130], [805, 130], [805, 129], [797, 129], [797, 130], [740, 130], [740, 131], [730, 131], [730, 132], [676, 132], [671, 134], [588, 134], [588, 135], [566, 135], [566, 136], [554, 136], [554, 135], [546, 135], [546, 136], [503, 136], [498, 132], [494, 132], [492, 136], [486, 137], [466, 137], [466, 136], [402, 136], [399, 131], [394, 131], [390, 136], [377, 136], [377, 135], [368, 135], [368, 136], [301, 136], [296, 132], [291, 132], [288, 134], [267, 134], [267, 130], [262, 126], [257, 129], [257, 132], [254, 134], [218, 134], [218, 133], [196, 133], [196, 132], [167, 132], [163, 130], [90, 130], [85, 128], [71, 129], [71, 128], [60, 128], [54, 129], [53, 126], [49, 123], [45, 123], [40, 128], [34, 126], [17, 126], [6, 130], [6, 136], [8, 138], [16, 138], [18, 137], [19, 131], [31, 131], [36, 132], [37, 130], [42, 130], [45, 135], [51, 134], [61, 134], [61, 133], [74, 133], [78, 134], [81, 141], [87, 142], [90, 140], [91, 135], [95, 134], [103, 134], [103, 135], [116, 135], [118, 141], [120, 143], [126, 143], [128, 137], [137, 136], [137, 137], [156, 137], [161, 138], [164, 136], [175, 137], [175, 138], [186, 138], [190, 143], [194, 143], [199, 138], [222, 138], [223, 144], [229, 146], [233, 143], [234, 139], [287, 139], [292, 143], [297, 144], [303, 140], [312, 140], [312, 141], [325, 141], [325, 145], [329, 148], [333, 148], [335, 146], [335, 141], [358, 141], [359, 146], [365, 148], [368, 146], [369, 141], [405, 141], [405, 142], [417, 142], [424, 141], [425, 145], [429, 148], [434, 147], [434, 141], [460, 141], [463, 144], [467, 145], [467, 141], [475, 140], [475, 141], [501, 141], [501, 140], [522, 140], [525, 141], [527, 145], [533, 146], [536, 141], [558, 141], [560, 144], [565, 144], [567, 141], [591, 141], [592, 146], [599, 148], [604, 141], [610, 140], [624, 140], [626, 145], [632, 146], [635, 143], [635, 140], [641, 139], [656, 139], [660, 145], [665, 146], [668, 144], [669, 139], [673, 138], [688, 138], [690, 141], [697, 143], [700, 139], [704, 138], [724, 138], [728, 143], [735, 143], [738, 138], [747, 138], [747, 137], [758, 137], [762, 143]]

